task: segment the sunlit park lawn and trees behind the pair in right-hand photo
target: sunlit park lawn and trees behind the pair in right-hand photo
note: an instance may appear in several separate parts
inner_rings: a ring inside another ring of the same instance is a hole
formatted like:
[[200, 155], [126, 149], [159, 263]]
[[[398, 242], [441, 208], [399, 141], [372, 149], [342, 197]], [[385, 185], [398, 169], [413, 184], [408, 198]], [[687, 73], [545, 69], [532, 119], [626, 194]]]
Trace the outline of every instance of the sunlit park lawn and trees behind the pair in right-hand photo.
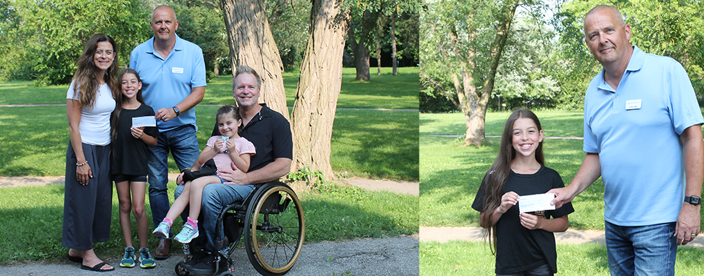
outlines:
[[[601, 65], [582, 18], [616, 6], [631, 44], [683, 65], [702, 106], [701, 1], [427, 1], [420, 18], [420, 226], [479, 227], [470, 207], [510, 111], [536, 111], [546, 166], [570, 183], [584, 158], [584, 92]], [[657, 149], [653, 156], [657, 156]], [[570, 230], [603, 231], [603, 183], [573, 201]], [[423, 232], [421, 232], [423, 241]], [[558, 275], [609, 275], [605, 246], [558, 244]], [[486, 242], [420, 242], [421, 275], [493, 275]], [[704, 275], [704, 250], [680, 246], [676, 275]]]

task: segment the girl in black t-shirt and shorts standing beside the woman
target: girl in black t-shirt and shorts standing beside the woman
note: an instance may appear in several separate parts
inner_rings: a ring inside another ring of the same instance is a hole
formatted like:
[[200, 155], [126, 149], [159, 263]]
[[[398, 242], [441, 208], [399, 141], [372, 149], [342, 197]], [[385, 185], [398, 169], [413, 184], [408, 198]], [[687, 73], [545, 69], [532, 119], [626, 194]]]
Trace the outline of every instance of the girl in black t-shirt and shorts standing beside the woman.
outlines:
[[[127, 68], [118, 76], [120, 95], [113, 111], [111, 154], [111, 175], [118, 190], [120, 201], [120, 226], [125, 238], [125, 253], [120, 261], [123, 268], [133, 268], [139, 262], [141, 268], [154, 268], [154, 263], [147, 248], [149, 230], [144, 196], [146, 194], [148, 146], [156, 146], [159, 135], [156, 127], [134, 127], [132, 118], [154, 117], [154, 111], [144, 103], [142, 98], [142, 80], [137, 71]], [[156, 122], [156, 121], [155, 121]], [[132, 223], [130, 211], [137, 220], [137, 237], [139, 252], [132, 246]]]

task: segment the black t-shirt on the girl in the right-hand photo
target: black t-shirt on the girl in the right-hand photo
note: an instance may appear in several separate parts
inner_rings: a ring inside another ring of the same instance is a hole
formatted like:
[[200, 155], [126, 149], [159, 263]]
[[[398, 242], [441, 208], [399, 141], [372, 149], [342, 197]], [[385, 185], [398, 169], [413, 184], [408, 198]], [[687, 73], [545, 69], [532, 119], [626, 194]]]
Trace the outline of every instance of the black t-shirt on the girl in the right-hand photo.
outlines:
[[[472, 208], [482, 211], [486, 176], [474, 198]], [[515, 192], [519, 196], [544, 194], [553, 188], [565, 187], [560, 174], [551, 168], [541, 166], [532, 175], [521, 175], [511, 171], [504, 186], [504, 193]], [[536, 214], [541, 218], [560, 218], [574, 212], [572, 203], [566, 203], [557, 210], [547, 210], [544, 214]], [[496, 274], [512, 274], [536, 268], [540, 265], [550, 265], [553, 273], [558, 272], [555, 250], [555, 235], [545, 230], [528, 230], [523, 227], [519, 218], [518, 204], [511, 206], [498, 222], [496, 222]], [[544, 215], [544, 216], [543, 216]]]

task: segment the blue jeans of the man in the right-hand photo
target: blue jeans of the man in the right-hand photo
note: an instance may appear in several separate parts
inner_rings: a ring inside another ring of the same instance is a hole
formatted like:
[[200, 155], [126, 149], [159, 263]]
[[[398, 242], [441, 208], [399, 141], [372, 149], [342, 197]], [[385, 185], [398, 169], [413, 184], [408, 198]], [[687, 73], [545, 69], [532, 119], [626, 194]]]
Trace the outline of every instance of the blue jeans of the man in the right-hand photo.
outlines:
[[675, 223], [626, 227], [606, 222], [611, 275], [674, 275]]

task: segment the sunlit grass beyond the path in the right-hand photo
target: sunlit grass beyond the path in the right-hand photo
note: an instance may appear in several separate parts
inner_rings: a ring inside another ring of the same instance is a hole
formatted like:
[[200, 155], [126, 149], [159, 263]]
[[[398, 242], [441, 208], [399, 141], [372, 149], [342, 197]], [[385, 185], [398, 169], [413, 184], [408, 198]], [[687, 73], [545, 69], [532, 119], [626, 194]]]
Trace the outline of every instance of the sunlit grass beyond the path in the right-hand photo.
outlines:
[[[537, 113], [546, 136], [581, 136], [582, 132], [577, 130], [582, 129], [582, 115], [576, 114], [581, 113]], [[487, 127], [487, 133], [500, 135], [507, 117], [508, 113], [488, 113], [486, 125], [491, 128]], [[479, 212], [471, 205], [486, 170], [496, 158], [500, 138], [489, 138], [477, 147], [460, 146], [457, 138], [427, 136], [451, 134], [453, 125], [464, 123], [461, 114], [420, 114], [420, 122], [420, 225], [479, 227]], [[546, 165], [557, 170], [562, 181], [569, 184], [584, 159], [582, 140], [545, 139], [543, 146]], [[601, 179], [579, 194], [572, 204], [575, 211], [570, 214], [570, 229], [604, 229]]]

